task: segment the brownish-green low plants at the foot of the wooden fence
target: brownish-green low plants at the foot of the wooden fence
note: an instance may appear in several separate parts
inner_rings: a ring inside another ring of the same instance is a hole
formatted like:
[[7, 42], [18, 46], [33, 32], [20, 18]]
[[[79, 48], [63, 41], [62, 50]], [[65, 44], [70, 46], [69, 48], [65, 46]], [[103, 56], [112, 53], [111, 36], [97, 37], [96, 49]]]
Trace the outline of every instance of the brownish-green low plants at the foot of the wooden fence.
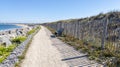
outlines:
[[[47, 27], [52, 33], [55, 32], [54, 29]], [[94, 42], [88, 41], [86, 39], [79, 40], [73, 36], [64, 35], [58, 37], [65, 43], [73, 46], [76, 50], [87, 53], [90, 60], [96, 60], [99, 63], [105, 62], [108, 67], [116, 67], [120, 65], [120, 51], [116, 52], [113, 44], [110, 42], [106, 43], [105, 49], [101, 50], [99, 44], [99, 39]]]

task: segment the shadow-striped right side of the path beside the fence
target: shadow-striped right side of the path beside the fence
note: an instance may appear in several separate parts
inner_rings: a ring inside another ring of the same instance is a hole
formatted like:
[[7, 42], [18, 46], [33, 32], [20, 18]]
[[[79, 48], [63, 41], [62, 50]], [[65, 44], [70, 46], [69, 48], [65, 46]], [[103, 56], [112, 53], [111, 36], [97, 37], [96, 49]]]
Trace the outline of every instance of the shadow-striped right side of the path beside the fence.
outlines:
[[[51, 36], [51, 32], [46, 29], [47, 35]], [[62, 55], [62, 61], [65, 61], [69, 67], [103, 67], [103, 65], [91, 61], [86, 54], [76, 51], [72, 46], [62, 42], [57, 38], [50, 38], [53, 46], [59, 50]]]

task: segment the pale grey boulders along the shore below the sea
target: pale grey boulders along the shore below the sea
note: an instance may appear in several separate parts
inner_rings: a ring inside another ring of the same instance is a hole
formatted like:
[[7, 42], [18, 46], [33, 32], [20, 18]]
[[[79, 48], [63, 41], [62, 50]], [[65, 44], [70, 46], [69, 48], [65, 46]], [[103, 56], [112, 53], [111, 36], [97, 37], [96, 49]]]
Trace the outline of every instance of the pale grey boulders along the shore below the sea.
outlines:
[[32, 27], [21, 27], [21, 28], [13, 28], [7, 30], [0, 31], [0, 45], [5, 43], [6, 45], [11, 44], [11, 39], [17, 36], [27, 36], [27, 32], [29, 32]]

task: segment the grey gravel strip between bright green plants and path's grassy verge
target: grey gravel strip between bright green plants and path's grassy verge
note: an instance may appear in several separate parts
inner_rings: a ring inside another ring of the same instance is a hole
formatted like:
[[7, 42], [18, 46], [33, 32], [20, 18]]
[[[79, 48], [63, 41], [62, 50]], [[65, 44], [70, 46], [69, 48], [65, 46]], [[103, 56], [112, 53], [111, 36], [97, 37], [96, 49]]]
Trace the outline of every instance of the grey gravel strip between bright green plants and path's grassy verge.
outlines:
[[22, 53], [25, 50], [26, 45], [29, 43], [30, 39], [33, 35], [29, 35], [27, 40], [21, 43], [19, 46], [17, 46], [13, 52], [5, 59], [2, 63], [0, 63], [0, 67], [15, 67], [15, 63], [19, 62], [19, 56], [22, 55]]

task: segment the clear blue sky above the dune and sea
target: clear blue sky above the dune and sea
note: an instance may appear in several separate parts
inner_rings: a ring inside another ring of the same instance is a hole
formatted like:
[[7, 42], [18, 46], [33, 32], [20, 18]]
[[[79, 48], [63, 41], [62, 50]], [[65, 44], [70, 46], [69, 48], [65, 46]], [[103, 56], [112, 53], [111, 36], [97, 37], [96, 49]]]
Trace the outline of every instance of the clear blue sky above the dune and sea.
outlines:
[[120, 0], [0, 0], [0, 22], [44, 23], [120, 10]]

